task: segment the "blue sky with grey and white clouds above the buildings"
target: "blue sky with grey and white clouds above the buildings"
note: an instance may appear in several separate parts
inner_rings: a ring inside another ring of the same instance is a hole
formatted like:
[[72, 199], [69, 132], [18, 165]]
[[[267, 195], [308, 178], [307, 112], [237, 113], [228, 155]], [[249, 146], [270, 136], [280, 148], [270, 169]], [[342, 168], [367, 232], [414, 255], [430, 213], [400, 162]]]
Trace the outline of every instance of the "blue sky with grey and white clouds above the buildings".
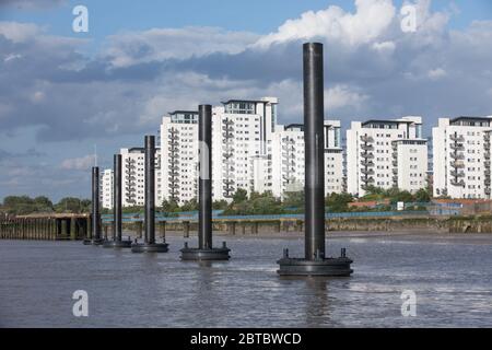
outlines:
[[0, 0], [0, 199], [89, 198], [95, 149], [110, 167], [175, 109], [277, 96], [279, 122], [302, 122], [314, 40], [344, 128], [420, 115], [430, 136], [440, 117], [492, 115], [490, 0]]

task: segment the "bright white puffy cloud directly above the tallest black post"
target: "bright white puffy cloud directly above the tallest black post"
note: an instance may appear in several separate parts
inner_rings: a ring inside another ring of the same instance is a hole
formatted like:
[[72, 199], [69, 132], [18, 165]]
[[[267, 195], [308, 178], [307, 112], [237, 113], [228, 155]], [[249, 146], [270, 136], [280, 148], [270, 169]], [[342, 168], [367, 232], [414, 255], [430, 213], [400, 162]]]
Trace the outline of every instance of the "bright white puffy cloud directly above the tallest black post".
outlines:
[[379, 37], [396, 14], [391, 0], [356, 0], [355, 7], [353, 14], [336, 5], [318, 12], [305, 12], [300, 19], [288, 20], [276, 33], [260, 38], [257, 46], [268, 47], [274, 43], [315, 37], [358, 46]]

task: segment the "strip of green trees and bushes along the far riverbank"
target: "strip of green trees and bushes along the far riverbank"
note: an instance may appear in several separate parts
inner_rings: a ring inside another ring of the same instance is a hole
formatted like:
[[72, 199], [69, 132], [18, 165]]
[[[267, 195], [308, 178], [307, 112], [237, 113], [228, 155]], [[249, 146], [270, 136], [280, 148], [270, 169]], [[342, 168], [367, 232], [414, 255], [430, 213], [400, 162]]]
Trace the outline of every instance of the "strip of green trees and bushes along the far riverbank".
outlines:
[[[376, 201], [380, 205], [374, 206], [350, 206], [351, 202], [370, 202]], [[421, 189], [415, 194], [398, 188], [382, 189], [377, 187], [367, 187], [366, 195], [355, 199], [352, 195], [330, 194], [325, 198], [325, 208], [328, 212], [353, 212], [353, 211], [388, 211], [399, 202], [418, 202], [425, 203], [431, 200], [429, 189]], [[212, 202], [212, 209], [223, 210], [223, 215], [258, 215], [258, 214], [288, 214], [288, 213], [303, 213], [304, 212], [304, 191], [286, 192], [283, 199], [277, 198], [271, 191], [262, 194], [250, 192], [245, 189], [237, 189], [232, 197], [232, 201], [215, 200]], [[419, 209], [421, 209], [419, 207]], [[156, 210], [165, 215], [177, 215], [178, 212], [197, 211], [198, 201], [196, 198], [190, 199], [183, 205], [176, 200], [165, 199], [161, 207]], [[91, 200], [80, 199], [74, 197], [66, 197], [60, 199], [57, 203], [46, 196], [31, 198], [28, 196], [9, 196], [3, 199], [0, 206], [0, 212], [8, 214], [31, 214], [31, 213], [46, 213], [46, 212], [70, 212], [70, 213], [85, 213], [91, 211]], [[102, 209], [102, 213], [110, 213], [108, 209]], [[125, 207], [124, 213], [143, 212], [143, 207]]]

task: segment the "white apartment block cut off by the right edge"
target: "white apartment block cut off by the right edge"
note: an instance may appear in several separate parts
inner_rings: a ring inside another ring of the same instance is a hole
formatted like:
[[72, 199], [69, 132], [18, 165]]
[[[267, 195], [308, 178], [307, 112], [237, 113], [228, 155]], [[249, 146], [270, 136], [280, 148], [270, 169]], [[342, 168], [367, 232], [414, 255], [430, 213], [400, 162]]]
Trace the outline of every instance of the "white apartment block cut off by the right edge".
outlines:
[[432, 129], [434, 196], [491, 197], [490, 117], [440, 118]]

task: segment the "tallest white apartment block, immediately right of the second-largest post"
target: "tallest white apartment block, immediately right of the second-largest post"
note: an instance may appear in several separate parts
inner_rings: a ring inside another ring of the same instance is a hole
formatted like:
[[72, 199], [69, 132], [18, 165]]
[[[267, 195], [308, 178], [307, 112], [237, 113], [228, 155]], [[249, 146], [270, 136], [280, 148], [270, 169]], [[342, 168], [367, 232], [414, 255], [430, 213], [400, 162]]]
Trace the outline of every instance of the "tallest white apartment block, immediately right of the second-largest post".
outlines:
[[271, 190], [271, 137], [278, 98], [230, 100], [212, 109], [212, 192], [231, 200], [238, 188]]

